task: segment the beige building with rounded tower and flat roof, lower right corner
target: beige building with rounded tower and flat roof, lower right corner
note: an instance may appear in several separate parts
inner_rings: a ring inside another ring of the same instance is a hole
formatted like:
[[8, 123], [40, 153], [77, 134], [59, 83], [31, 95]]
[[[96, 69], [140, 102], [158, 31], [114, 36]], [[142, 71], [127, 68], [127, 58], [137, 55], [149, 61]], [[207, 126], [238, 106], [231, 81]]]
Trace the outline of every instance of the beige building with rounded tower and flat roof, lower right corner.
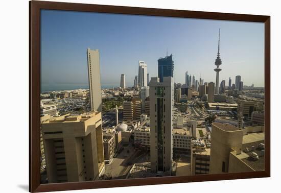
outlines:
[[212, 124], [210, 174], [263, 171], [264, 126], [239, 129], [230, 124]]

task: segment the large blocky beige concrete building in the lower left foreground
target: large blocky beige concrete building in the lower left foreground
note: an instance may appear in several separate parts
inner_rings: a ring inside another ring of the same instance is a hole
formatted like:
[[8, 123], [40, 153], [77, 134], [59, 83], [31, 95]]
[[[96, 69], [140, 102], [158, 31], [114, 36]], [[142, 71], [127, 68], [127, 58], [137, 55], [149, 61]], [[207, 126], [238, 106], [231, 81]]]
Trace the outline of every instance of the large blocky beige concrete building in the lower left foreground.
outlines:
[[100, 112], [66, 114], [41, 128], [49, 183], [99, 179], [104, 171]]

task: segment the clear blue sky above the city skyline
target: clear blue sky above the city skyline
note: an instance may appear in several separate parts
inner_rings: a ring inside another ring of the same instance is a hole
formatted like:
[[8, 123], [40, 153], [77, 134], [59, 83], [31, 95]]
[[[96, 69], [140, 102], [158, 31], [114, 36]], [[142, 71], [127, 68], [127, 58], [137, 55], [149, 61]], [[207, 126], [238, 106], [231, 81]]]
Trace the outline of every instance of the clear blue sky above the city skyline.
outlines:
[[121, 74], [131, 86], [138, 60], [156, 77], [167, 48], [176, 83], [185, 71], [215, 82], [219, 28], [220, 81], [241, 75], [244, 85], [264, 86], [263, 23], [42, 10], [41, 90], [87, 88], [87, 47], [100, 50], [102, 86], [119, 86]]

